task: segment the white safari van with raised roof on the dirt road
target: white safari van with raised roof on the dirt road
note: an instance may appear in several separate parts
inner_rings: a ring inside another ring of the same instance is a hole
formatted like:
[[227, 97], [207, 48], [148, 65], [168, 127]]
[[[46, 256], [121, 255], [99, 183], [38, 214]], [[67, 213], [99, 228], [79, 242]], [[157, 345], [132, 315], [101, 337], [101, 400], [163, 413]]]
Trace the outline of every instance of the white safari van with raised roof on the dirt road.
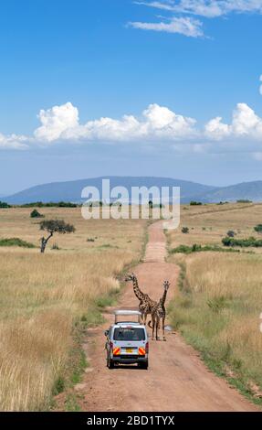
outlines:
[[149, 342], [146, 328], [141, 324], [141, 312], [117, 310], [114, 316], [114, 324], [105, 331], [108, 368], [137, 363], [140, 368], [148, 369]]

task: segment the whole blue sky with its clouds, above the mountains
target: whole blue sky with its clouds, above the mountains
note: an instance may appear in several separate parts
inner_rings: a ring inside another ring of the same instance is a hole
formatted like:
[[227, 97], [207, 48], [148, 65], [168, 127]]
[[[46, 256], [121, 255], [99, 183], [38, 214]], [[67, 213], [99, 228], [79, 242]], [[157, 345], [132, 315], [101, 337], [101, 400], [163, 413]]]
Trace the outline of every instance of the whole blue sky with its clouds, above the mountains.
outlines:
[[0, 195], [102, 175], [262, 179], [261, 24], [258, 0], [2, 2]]

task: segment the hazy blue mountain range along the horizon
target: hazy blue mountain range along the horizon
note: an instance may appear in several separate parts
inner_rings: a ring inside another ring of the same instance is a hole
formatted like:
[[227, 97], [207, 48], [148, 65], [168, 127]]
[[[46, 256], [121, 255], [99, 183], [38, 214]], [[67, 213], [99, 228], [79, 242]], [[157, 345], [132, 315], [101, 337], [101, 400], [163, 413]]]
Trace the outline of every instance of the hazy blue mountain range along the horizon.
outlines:
[[96, 177], [68, 182], [55, 182], [27, 188], [12, 196], [5, 197], [5, 201], [17, 205], [35, 201], [81, 202], [82, 189], [87, 186], [98, 188], [101, 194], [103, 178], [110, 179], [110, 188], [125, 187], [129, 190], [130, 195], [131, 187], [180, 187], [181, 201], [183, 203], [188, 203], [191, 200], [203, 203], [236, 201], [238, 199], [262, 201], [262, 181], [244, 182], [229, 187], [211, 187], [169, 177]]

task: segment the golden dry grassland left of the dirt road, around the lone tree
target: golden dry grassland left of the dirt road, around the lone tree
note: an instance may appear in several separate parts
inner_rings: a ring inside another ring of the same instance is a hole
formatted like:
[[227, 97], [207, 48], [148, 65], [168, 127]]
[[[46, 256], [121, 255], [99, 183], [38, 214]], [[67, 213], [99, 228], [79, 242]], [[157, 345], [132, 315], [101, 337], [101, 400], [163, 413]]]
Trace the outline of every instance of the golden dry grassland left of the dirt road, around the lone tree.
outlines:
[[146, 237], [144, 220], [84, 220], [79, 208], [41, 208], [45, 220], [63, 219], [76, 232], [55, 234], [40, 254], [43, 231], [31, 210], [0, 210], [0, 240], [36, 246], [0, 246], [2, 411], [47, 410], [68, 379], [78, 380], [86, 366], [81, 330], [101, 322], [100, 309], [120, 291], [117, 275], [140, 260]]

